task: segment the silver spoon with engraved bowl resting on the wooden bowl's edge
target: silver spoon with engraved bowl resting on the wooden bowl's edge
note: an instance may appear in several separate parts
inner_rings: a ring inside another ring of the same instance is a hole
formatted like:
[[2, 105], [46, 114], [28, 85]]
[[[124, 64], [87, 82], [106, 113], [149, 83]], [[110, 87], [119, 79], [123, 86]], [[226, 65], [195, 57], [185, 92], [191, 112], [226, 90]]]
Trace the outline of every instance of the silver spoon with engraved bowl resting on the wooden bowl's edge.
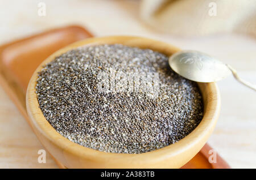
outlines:
[[233, 74], [238, 82], [256, 91], [256, 86], [241, 79], [233, 67], [196, 50], [181, 50], [171, 55], [169, 65], [177, 74], [195, 82], [217, 82]]

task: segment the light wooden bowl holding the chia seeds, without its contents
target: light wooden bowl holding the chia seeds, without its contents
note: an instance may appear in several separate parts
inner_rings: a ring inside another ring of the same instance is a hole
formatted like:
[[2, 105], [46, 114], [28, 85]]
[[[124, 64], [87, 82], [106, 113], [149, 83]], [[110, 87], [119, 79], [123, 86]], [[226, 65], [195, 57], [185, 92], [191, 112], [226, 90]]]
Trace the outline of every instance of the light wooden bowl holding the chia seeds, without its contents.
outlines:
[[27, 88], [27, 112], [38, 139], [67, 168], [180, 168], [200, 151], [216, 125], [220, 112], [220, 93], [216, 83], [198, 83], [204, 100], [204, 116], [199, 126], [179, 142], [151, 152], [106, 153], [86, 148], [61, 136], [44, 118], [35, 93], [38, 72], [46, 63], [68, 50], [100, 44], [123, 44], [152, 49], [166, 55], [179, 51], [175, 46], [148, 38], [114, 36], [88, 38], [53, 53], [36, 69]]

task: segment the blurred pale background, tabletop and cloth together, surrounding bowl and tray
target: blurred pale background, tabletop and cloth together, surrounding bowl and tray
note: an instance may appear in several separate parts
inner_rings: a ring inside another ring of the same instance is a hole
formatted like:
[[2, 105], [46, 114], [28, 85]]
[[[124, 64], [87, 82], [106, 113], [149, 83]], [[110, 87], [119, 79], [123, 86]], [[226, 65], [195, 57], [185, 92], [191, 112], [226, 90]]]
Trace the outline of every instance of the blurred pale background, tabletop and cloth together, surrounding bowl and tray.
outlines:
[[[200, 50], [256, 84], [255, 0], [0, 1], [0, 44], [73, 24], [94, 36], [144, 36]], [[222, 108], [208, 143], [232, 168], [256, 168], [256, 93], [232, 76], [217, 84]], [[51, 157], [38, 164], [42, 148], [0, 87], [0, 168], [57, 168]]]

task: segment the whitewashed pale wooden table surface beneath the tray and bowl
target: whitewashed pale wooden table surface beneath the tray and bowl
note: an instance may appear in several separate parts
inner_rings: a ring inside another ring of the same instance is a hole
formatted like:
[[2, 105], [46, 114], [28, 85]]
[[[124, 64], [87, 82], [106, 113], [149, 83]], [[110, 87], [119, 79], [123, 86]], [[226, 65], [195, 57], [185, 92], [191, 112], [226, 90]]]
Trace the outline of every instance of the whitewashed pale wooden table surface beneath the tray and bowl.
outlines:
[[[0, 2], [0, 44], [68, 24], [80, 24], [96, 36], [137, 35], [170, 42], [182, 49], [214, 55], [256, 84], [255, 38], [232, 33], [208, 37], [174, 37], [139, 20], [139, 1], [43, 1], [46, 16], [38, 16], [39, 1]], [[26, 5], [26, 6], [24, 6]], [[232, 168], [256, 168], [256, 93], [229, 77], [218, 82], [222, 108], [208, 143]], [[0, 87], [0, 168], [57, 168], [25, 119]]]

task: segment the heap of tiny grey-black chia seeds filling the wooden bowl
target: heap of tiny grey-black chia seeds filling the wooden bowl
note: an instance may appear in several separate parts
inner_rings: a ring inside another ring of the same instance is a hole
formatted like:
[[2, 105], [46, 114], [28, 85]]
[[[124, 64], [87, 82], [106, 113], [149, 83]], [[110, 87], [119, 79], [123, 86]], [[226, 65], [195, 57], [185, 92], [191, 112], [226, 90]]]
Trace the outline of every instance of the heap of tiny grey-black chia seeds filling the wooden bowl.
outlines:
[[[157, 97], [98, 91], [101, 72], [158, 72]], [[195, 82], [177, 75], [150, 49], [97, 45], [70, 50], [38, 74], [36, 93], [47, 121], [65, 138], [112, 153], [143, 153], [183, 139], [203, 118]]]

